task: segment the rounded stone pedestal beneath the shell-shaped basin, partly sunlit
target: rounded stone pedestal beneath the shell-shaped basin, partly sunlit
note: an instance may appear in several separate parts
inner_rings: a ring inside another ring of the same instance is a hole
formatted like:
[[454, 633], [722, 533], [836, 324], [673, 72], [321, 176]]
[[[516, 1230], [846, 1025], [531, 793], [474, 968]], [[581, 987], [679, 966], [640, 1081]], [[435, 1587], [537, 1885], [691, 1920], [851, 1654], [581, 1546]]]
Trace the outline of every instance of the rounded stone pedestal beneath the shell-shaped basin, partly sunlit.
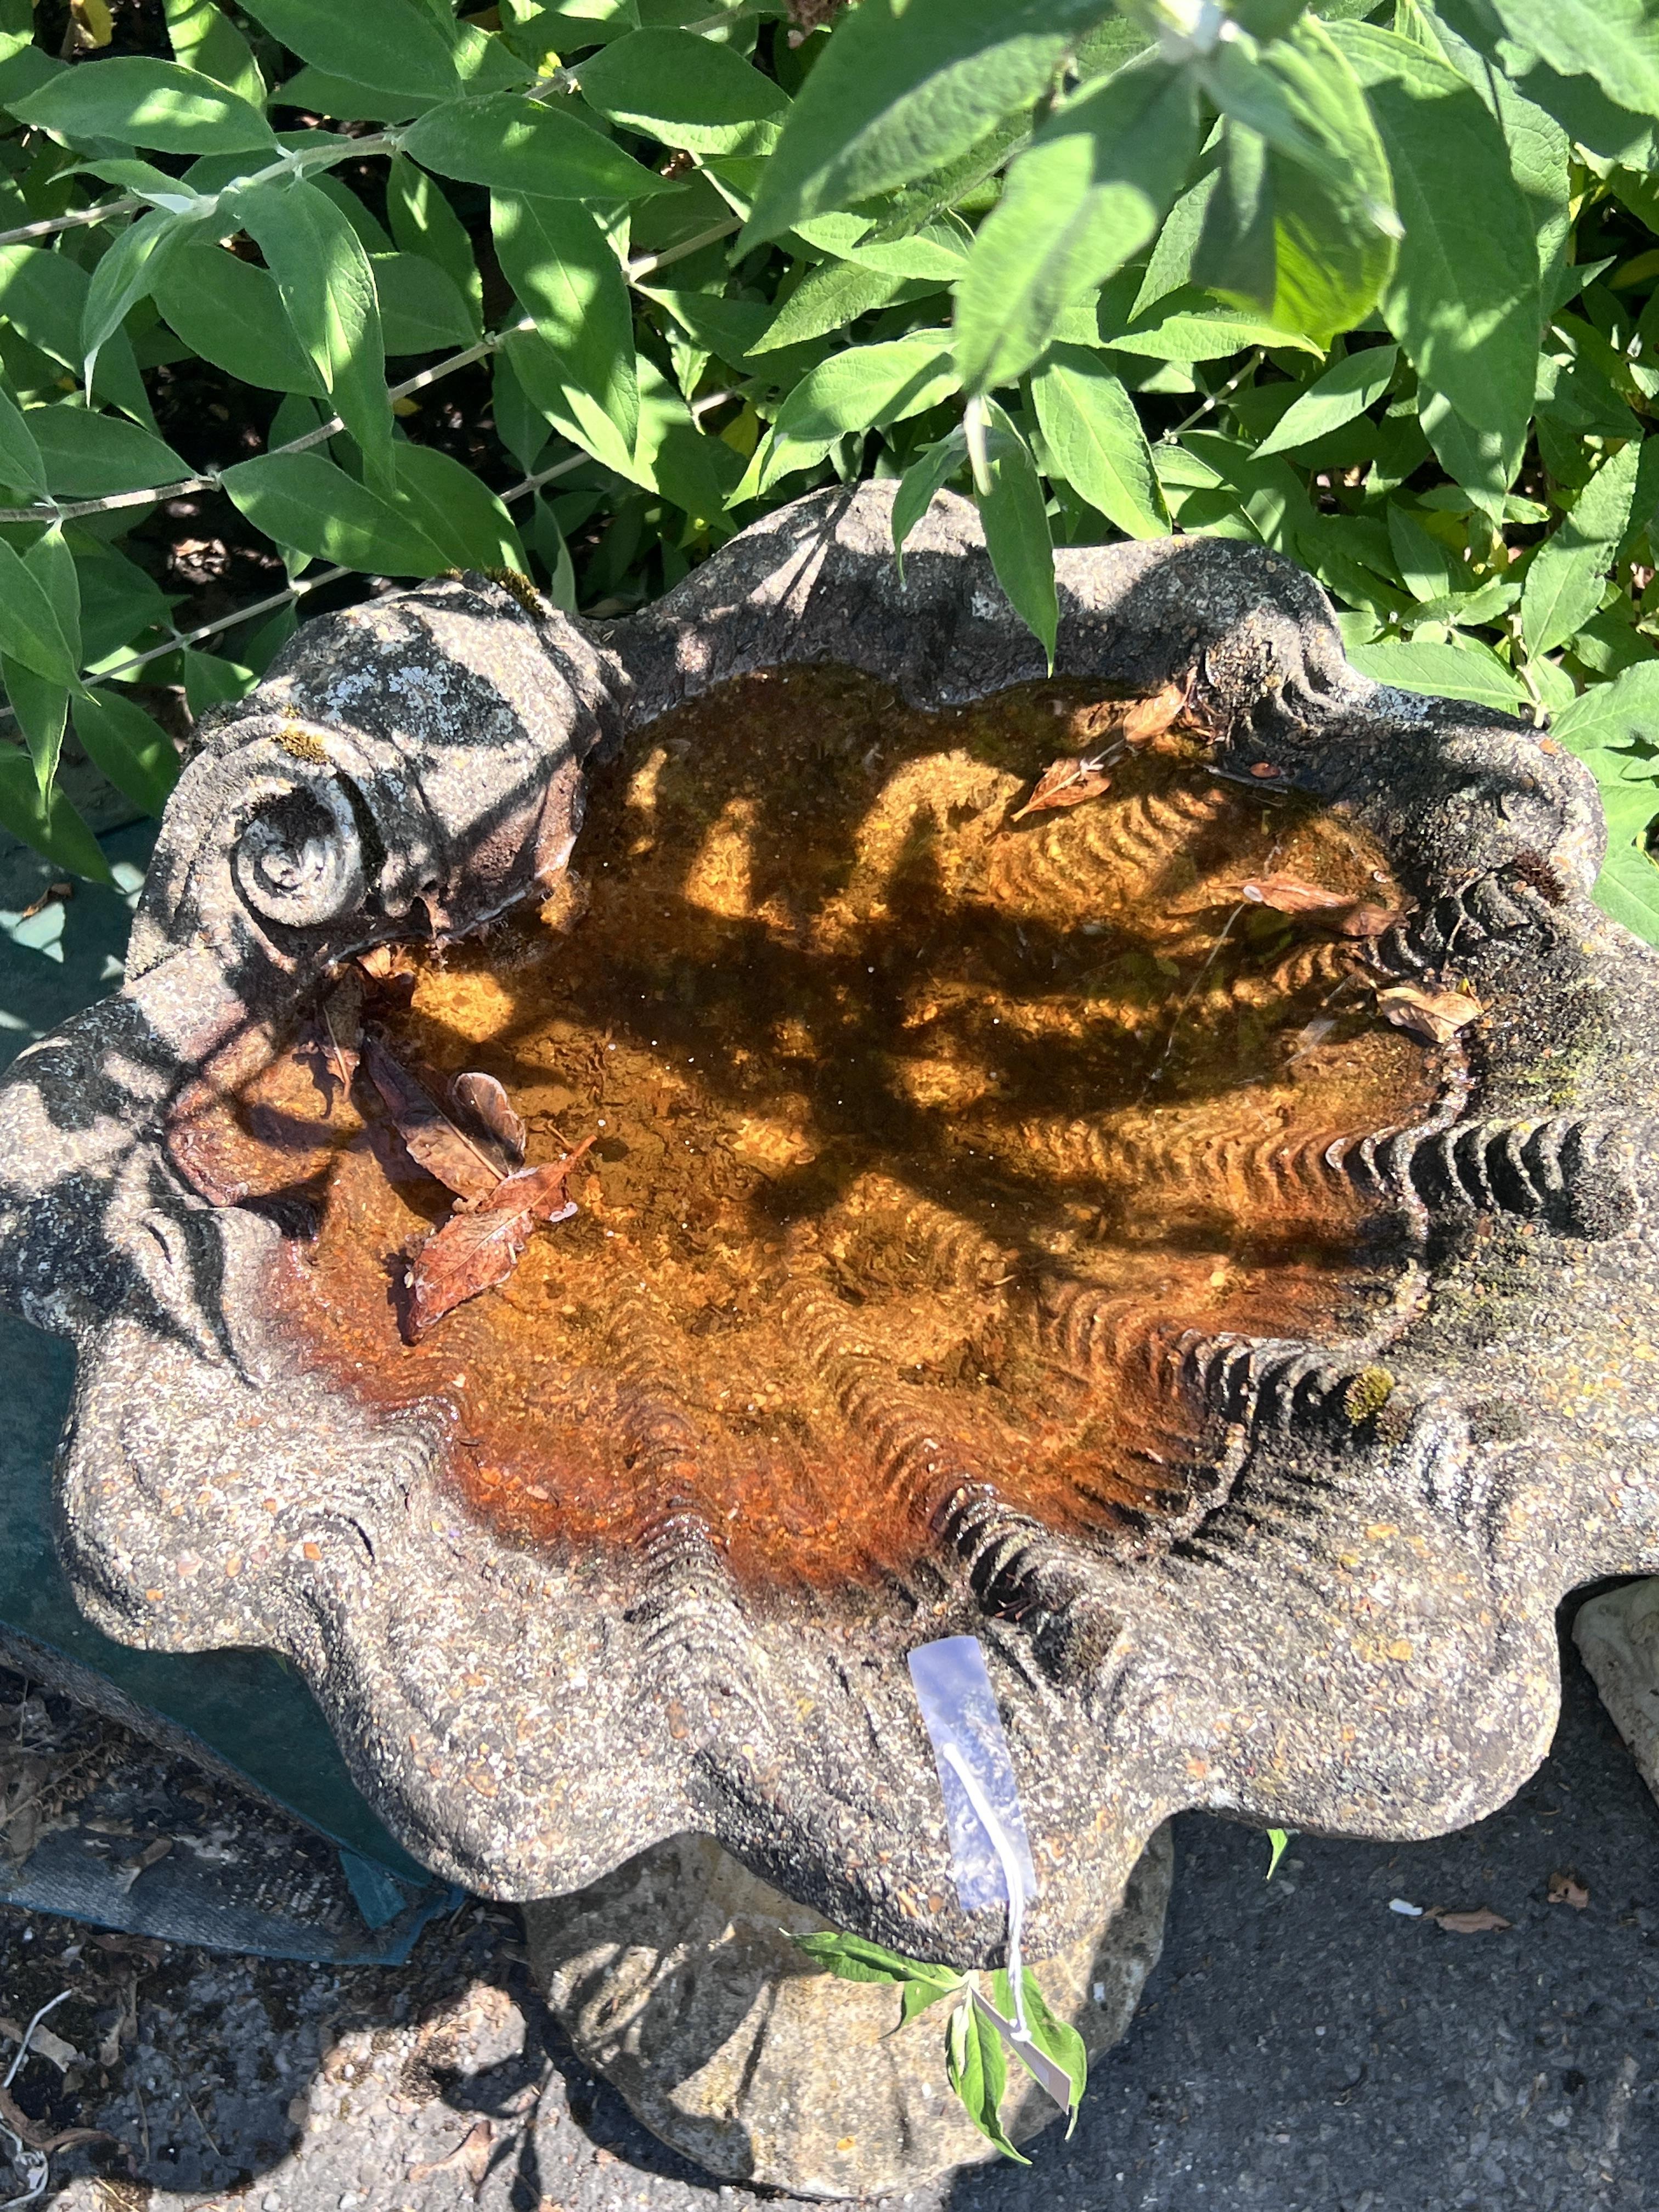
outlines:
[[[1152, 1836], [1124, 1902], [1037, 1969], [1091, 2066], [1126, 2033], [1164, 1944], [1175, 1854]], [[945, 2081], [949, 2002], [898, 2028], [891, 1984], [841, 1982], [794, 1944], [818, 1913], [708, 1836], [672, 1836], [575, 1898], [524, 1907], [531, 1973], [588, 2066], [723, 2181], [880, 2197], [998, 2157]], [[1009, 2062], [1015, 2143], [1060, 2117]]]

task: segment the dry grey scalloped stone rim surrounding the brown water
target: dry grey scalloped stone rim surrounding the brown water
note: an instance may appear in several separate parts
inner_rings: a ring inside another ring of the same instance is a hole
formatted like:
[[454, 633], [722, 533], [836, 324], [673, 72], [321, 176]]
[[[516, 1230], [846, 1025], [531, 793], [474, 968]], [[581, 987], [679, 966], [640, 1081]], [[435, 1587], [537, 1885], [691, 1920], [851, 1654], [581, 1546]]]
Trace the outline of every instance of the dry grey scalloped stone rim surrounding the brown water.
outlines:
[[1358, 1181], [1413, 1252], [1396, 1387], [1354, 1425], [1367, 1343], [1190, 1345], [1172, 1387], [1230, 1469], [1190, 1540], [1124, 1562], [1029, 1531], [995, 1615], [978, 1553], [945, 1544], [927, 1590], [849, 1601], [834, 1635], [754, 1606], [761, 1730], [708, 1686], [684, 1723], [633, 1568], [507, 1548], [456, 1513], [431, 1418], [372, 1420], [296, 1376], [261, 1325], [279, 1225], [204, 1206], [157, 1146], [197, 1057], [330, 960], [555, 867], [582, 761], [690, 688], [768, 657], [936, 703], [1035, 675], [971, 511], [936, 504], [900, 593], [889, 495], [768, 518], [602, 635], [482, 582], [307, 628], [186, 772], [126, 991], [0, 1091], [0, 1292], [77, 1338], [60, 1540], [84, 1606], [142, 1646], [290, 1655], [429, 1865], [546, 1896], [708, 1832], [841, 1927], [975, 1964], [1002, 1929], [951, 1902], [902, 1666], [920, 1635], [987, 1644], [1044, 1953], [1099, 1927], [1181, 1807], [1371, 1838], [1491, 1812], [1548, 1743], [1559, 1593], [1659, 1566], [1659, 962], [1584, 896], [1584, 770], [1509, 717], [1360, 679], [1318, 588], [1259, 549], [1062, 555], [1062, 670], [1144, 686], [1197, 659], [1217, 772], [1349, 805], [1420, 900], [1383, 964], [1455, 971], [1486, 1009], [1442, 1124], [1305, 1164]]

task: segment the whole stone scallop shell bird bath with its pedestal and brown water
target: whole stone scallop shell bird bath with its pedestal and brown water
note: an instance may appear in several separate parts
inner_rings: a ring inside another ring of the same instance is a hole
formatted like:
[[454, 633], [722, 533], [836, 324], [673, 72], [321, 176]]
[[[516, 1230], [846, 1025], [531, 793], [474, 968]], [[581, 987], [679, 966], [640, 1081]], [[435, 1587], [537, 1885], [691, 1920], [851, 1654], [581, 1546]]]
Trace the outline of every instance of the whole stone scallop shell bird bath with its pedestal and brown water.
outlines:
[[1102, 2048], [1170, 1814], [1480, 1818], [1559, 1595], [1659, 1568], [1659, 975], [1588, 774], [1230, 542], [1062, 553], [1048, 675], [973, 511], [900, 582], [889, 502], [608, 626], [310, 624], [0, 1091], [84, 1608], [288, 1655], [411, 1851], [546, 1900], [648, 2126], [807, 2194], [987, 2150], [787, 1942], [1002, 1962], [916, 1646], [980, 1639]]

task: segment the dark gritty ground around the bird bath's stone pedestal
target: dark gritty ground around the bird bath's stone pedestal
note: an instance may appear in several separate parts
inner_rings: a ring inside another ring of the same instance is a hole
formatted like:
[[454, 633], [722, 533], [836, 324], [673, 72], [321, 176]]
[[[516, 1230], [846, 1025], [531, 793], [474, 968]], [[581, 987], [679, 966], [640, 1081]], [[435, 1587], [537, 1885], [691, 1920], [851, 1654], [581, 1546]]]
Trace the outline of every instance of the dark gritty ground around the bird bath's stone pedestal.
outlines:
[[[1071, 2143], [916, 2212], [1462, 2212], [1659, 2201], [1659, 1807], [1568, 1659], [1555, 1750], [1438, 1843], [1265, 1840], [1188, 1816], [1164, 1962]], [[1573, 1874], [1588, 1905], [1546, 1902]], [[1453, 1933], [1389, 1911], [1491, 1907]], [[0, 1913], [0, 2015], [75, 1995], [13, 2095], [117, 2141], [53, 2161], [58, 2212], [717, 2212], [571, 2055], [518, 1916], [467, 1902], [403, 1969], [95, 1938]], [[2, 2028], [0, 2028], [2, 2033]], [[916, 2028], [911, 2033], [931, 2033]], [[62, 2059], [62, 2053], [60, 2053]], [[856, 2095], [856, 2088], [849, 2088]]]

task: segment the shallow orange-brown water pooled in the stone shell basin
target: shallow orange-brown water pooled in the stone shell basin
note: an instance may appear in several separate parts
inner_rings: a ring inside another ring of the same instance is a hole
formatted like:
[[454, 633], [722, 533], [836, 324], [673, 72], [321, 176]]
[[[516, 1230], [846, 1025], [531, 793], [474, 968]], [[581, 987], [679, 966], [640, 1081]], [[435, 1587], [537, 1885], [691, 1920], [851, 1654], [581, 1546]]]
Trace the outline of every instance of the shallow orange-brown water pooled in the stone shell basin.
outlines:
[[580, 1214], [405, 1343], [449, 1194], [363, 1079], [325, 1106], [316, 1055], [279, 1057], [241, 1115], [265, 1188], [321, 1194], [276, 1285], [301, 1356], [447, 1400], [471, 1506], [560, 1551], [695, 1513], [748, 1586], [867, 1582], [964, 1482], [1108, 1548], [1181, 1526], [1172, 1345], [1378, 1318], [1398, 1261], [1301, 1170], [1429, 1110], [1442, 1055], [1345, 984], [1363, 945], [1241, 905], [1272, 872], [1400, 902], [1340, 814], [1172, 734], [1009, 823], [1097, 750], [1099, 697], [927, 714], [796, 670], [639, 732], [580, 883], [372, 1000], [434, 1088], [500, 1077], [531, 1164], [595, 1139]]

